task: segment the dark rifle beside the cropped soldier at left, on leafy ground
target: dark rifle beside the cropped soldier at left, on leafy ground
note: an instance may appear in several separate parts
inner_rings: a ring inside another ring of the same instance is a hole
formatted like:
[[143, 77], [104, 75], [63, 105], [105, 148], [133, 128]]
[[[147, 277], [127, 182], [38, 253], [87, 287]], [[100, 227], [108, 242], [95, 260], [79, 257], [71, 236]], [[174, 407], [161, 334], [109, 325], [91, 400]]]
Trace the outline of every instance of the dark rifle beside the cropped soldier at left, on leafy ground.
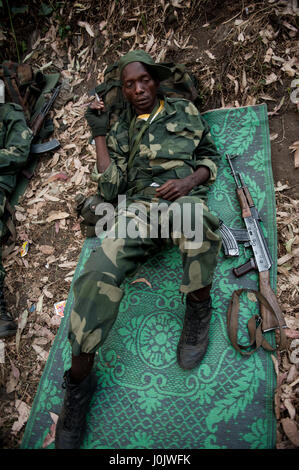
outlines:
[[[54, 101], [57, 98], [57, 95], [60, 91], [61, 85], [55, 88], [53, 95], [49, 99], [47, 103], [42, 107], [41, 111], [34, 117], [34, 119], [30, 123], [30, 128], [33, 132], [33, 142], [38, 136], [42, 125], [44, 123], [44, 120], [46, 119], [46, 116], [50, 109], [53, 106]], [[50, 142], [42, 143], [42, 144], [35, 144], [33, 143], [30, 148], [30, 153], [36, 154], [36, 153], [44, 153], [44, 152], [49, 152], [50, 150], [55, 150], [60, 146], [60, 143], [58, 140], [53, 139]]]

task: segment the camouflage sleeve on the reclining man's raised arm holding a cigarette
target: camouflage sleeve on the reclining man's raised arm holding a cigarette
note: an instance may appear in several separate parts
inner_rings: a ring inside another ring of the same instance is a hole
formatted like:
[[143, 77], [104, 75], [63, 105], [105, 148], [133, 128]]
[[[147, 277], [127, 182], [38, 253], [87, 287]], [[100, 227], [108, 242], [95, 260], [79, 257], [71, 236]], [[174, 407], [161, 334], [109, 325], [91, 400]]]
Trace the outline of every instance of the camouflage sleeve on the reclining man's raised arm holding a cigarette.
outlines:
[[103, 173], [95, 167], [92, 179], [97, 181], [100, 195], [106, 201], [113, 201], [127, 188], [128, 131], [119, 121], [111, 128], [106, 142], [111, 163]]

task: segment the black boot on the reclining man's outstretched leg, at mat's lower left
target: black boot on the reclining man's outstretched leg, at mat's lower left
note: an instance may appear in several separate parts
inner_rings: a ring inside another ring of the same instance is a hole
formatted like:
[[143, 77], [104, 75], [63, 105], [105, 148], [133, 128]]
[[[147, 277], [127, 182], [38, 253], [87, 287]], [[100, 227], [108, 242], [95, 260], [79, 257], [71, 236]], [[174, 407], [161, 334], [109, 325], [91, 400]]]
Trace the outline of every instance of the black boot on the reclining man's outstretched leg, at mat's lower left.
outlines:
[[84, 437], [89, 402], [96, 386], [95, 377], [90, 373], [82, 382], [74, 384], [68, 370], [64, 374], [62, 386], [66, 391], [56, 425], [55, 447], [79, 449]]

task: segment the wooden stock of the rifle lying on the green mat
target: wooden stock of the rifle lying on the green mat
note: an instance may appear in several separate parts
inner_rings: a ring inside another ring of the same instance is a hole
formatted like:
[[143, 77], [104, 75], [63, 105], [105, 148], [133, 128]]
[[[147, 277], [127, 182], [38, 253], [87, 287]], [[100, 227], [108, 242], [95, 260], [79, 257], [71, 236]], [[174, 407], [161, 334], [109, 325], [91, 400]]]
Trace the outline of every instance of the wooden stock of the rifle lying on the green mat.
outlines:
[[267, 299], [269, 305], [275, 312], [275, 315], [271, 313], [265, 305], [261, 303], [261, 317], [262, 317], [262, 330], [263, 332], [274, 330], [279, 327], [286, 327], [283, 313], [279, 307], [277, 297], [270, 286], [270, 272], [261, 271], [259, 272], [259, 288], [261, 294]]

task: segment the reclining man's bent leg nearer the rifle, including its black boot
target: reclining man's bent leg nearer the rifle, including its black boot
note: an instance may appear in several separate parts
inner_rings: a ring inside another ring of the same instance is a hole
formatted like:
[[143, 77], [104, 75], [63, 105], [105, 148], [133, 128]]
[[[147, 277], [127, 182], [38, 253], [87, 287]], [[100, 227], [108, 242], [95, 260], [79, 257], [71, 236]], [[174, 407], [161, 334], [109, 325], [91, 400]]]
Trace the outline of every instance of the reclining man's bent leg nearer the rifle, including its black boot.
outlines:
[[[182, 206], [191, 203], [191, 223], [194, 217], [197, 198], [184, 197], [178, 200]], [[203, 359], [208, 346], [209, 324], [212, 315], [210, 290], [217, 256], [221, 248], [219, 222], [208, 208], [202, 208], [201, 246], [184, 234], [173, 238], [180, 248], [183, 261], [183, 279], [180, 290], [186, 295], [186, 313], [183, 331], [177, 348], [178, 363], [183, 369], [193, 369]], [[198, 221], [197, 221], [198, 222]]]

